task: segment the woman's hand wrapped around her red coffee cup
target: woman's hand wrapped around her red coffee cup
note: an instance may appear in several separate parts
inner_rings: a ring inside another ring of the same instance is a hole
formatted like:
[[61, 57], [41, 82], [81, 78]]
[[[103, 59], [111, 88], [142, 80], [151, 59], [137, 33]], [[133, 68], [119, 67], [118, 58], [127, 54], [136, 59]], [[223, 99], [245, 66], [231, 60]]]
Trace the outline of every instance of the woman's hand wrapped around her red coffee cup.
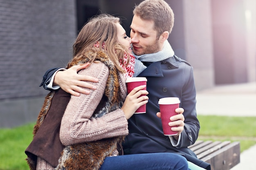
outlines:
[[[148, 91], [142, 90], [145, 85], [134, 88], [126, 97], [121, 109], [124, 111], [126, 119], [130, 119], [135, 111], [142, 105], [148, 103]], [[144, 95], [144, 96], [141, 96]]]

